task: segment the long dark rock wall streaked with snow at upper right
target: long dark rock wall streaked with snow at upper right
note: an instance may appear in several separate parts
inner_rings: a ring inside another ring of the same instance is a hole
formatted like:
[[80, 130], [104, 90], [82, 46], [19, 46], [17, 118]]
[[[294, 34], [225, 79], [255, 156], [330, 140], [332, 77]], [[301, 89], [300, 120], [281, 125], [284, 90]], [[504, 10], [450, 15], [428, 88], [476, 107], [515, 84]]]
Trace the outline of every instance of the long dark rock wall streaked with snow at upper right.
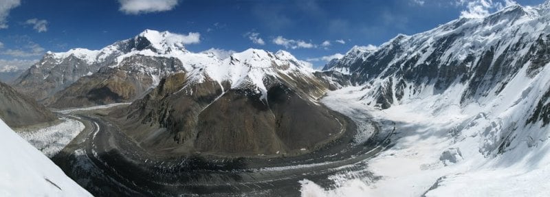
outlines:
[[[453, 65], [469, 57], [469, 59], [476, 59], [482, 56], [484, 51], [497, 46], [500, 46], [500, 50], [493, 51], [496, 53], [494, 56], [500, 56], [507, 51], [507, 47], [502, 46], [509, 46], [510, 49], [517, 48], [522, 45], [514, 45], [515, 43], [529, 43], [539, 37], [543, 39], [544, 36], [541, 34], [550, 33], [547, 28], [550, 25], [550, 9], [546, 9], [547, 5], [549, 5], [548, 2], [536, 7], [522, 7], [515, 4], [481, 19], [460, 18], [412, 36], [399, 34], [380, 45], [375, 51], [351, 49], [340, 62], [327, 69], [344, 71], [344, 73], [355, 69], [363, 70], [366, 68], [358, 67], [359, 62], [366, 60], [375, 64], [378, 69], [386, 70], [384, 72], [395, 69], [386, 69], [389, 65], [415, 67], [428, 62], [437, 63], [437, 65]], [[525, 49], [520, 52], [525, 54], [527, 51]], [[387, 56], [388, 59], [380, 61], [382, 56]], [[414, 61], [407, 61], [411, 58]], [[354, 65], [355, 62], [357, 64]], [[404, 65], [406, 62], [415, 63]], [[353, 66], [350, 67], [350, 65]], [[372, 70], [373, 73], [379, 73], [379, 71]], [[375, 76], [373, 73], [369, 76]], [[385, 75], [382, 74], [382, 76]]]

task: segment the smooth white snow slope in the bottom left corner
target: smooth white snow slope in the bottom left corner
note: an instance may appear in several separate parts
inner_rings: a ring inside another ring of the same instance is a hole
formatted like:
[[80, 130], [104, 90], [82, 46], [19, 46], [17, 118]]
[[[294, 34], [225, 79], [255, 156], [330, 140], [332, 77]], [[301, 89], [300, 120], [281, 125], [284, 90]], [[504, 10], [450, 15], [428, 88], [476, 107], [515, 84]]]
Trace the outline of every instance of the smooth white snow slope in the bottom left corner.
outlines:
[[0, 196], [91, 196], [0, 121]]

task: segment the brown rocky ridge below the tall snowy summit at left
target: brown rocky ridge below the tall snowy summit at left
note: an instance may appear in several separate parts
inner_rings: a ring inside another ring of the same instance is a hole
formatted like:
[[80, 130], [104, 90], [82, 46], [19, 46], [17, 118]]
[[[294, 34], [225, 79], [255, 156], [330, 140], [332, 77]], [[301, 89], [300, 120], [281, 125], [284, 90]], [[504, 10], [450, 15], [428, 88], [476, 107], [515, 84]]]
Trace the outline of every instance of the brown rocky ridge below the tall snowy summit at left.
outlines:
[[132, 102], [153, 89], [158, 78], [183, 70], [175, 58], [131, 56], [119, 67], [102, 67], [91, 76], [80, 78], [45, 104], [54, 108], [69, 108]]

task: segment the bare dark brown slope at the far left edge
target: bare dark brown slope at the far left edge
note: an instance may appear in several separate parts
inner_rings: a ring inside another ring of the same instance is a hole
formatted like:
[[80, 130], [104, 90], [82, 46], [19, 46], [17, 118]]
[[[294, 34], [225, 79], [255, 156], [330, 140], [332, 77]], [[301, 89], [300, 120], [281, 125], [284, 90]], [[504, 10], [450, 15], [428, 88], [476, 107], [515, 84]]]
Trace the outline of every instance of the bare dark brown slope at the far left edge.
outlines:
[[56, 116], [36, 101], [0, 82], [0, 117], [14, 128], [56, 120]]

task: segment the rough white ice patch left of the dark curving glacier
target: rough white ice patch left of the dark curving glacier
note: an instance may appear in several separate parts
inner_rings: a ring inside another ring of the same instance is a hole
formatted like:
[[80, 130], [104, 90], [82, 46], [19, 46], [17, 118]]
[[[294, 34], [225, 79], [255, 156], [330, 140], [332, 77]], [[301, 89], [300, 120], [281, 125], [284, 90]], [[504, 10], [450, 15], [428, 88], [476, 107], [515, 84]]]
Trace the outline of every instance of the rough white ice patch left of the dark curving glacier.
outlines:
[[18, 134], [47, 157], [52, 158], [85, 128], [80, 121], [69, 118], [61, 118], [61, 120], [63, 122], [55, 126], [32, 131], [22, 130]]

